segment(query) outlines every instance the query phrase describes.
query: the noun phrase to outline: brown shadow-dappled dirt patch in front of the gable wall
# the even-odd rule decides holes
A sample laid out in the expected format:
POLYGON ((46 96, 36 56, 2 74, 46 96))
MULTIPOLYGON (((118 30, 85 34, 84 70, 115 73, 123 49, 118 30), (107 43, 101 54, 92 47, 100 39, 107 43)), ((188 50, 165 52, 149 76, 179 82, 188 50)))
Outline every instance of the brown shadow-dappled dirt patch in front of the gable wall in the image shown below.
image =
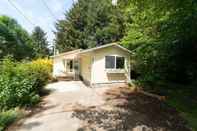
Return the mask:
POLYGON ((102 106, 74 111, 72 117, 83 121, 78 131, 190 131, 175 109, 156 98, 129 88, 112 88, 103 97, 102 106))

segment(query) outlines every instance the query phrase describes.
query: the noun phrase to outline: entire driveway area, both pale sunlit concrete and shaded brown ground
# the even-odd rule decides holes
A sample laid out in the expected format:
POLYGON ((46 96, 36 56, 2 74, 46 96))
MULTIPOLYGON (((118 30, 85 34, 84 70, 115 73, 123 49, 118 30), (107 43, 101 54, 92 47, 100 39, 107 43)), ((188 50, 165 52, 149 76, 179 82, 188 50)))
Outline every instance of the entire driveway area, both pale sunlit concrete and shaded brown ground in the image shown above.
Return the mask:
POLYGON ((53 92, 41 107, 9 131, 191 131, 175 109, 130 87, 70 81, 46 88, 53 92))

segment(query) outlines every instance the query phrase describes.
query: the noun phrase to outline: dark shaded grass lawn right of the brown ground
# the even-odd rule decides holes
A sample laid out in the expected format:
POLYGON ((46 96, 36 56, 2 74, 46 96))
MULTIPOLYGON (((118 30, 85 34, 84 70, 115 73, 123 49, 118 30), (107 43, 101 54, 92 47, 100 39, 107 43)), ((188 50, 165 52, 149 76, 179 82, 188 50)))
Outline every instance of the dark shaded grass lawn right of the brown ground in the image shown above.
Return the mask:
POLYGON ((188 121, 188 126, 197 131, 197 97, 192 97, 194 91, 191 87, 177 84, 159 84, 156 87, 156 93, 167 96, 167 104, 176 108, 188 121))

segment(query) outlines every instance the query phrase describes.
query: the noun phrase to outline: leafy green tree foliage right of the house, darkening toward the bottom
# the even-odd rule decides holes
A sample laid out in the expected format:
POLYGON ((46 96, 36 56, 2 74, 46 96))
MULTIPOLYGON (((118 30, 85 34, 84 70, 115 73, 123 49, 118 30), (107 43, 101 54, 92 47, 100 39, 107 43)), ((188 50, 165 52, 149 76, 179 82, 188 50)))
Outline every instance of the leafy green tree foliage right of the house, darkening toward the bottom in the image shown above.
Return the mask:
POLYGON ((191 83, 197 79, 197 3, 193 0, 132 0, 122 44, 133 50, 141 82, 191 83))

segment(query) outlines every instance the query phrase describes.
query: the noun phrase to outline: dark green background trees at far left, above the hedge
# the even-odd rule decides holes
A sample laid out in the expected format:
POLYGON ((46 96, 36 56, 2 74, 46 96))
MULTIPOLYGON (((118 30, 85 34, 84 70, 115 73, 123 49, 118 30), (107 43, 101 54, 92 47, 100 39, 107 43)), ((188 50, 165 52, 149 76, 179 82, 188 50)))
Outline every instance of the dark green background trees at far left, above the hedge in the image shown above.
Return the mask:
POLYGON ((16 20, 0 16, 0 59, 12 55, 15 59, 46 57, 50 53, 46 33, 35 27, 32 35, 16 20))

